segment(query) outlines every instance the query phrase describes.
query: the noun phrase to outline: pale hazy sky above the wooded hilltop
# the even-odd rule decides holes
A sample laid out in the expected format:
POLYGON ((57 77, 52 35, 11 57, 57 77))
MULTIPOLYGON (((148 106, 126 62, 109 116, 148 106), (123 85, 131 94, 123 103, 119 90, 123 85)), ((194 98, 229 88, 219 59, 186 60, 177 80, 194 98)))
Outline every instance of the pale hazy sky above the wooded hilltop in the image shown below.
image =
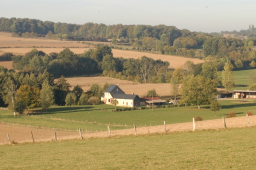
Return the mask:
POLYGON ((220 32, 256 26, 255 7, 256 0, 0 0, 0 17, 76 24, 165 24, 220 32))

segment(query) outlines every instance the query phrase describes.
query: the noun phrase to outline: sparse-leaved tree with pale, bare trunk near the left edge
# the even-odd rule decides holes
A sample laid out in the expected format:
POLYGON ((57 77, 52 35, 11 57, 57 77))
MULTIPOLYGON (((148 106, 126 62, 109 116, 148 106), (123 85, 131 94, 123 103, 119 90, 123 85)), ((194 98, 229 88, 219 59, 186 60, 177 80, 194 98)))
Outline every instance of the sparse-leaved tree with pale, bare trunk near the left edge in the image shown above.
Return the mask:
POLYGON ((5 96, 5 102, 6 103, 12 103, 12 108, 13 108, 13 115, 17 115, 16 111, 15 111, 15 105, 14 105, 14 96, 16 93, 16 89, 17 89, 17 84, 13 83, 12 80, 9 79, 9 81, 7 83, 5 83, 4 85, 4 92, 6 93, 5 96))

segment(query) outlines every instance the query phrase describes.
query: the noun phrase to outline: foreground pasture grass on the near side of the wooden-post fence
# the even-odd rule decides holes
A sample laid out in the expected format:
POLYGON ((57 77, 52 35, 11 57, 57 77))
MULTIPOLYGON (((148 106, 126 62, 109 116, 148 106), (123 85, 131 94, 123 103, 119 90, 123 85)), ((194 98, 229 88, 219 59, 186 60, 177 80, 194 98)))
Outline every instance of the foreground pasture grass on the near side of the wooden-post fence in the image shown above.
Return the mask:
POLYGON ((0 169, 254 169, 256 127, 0 145, 0 169))

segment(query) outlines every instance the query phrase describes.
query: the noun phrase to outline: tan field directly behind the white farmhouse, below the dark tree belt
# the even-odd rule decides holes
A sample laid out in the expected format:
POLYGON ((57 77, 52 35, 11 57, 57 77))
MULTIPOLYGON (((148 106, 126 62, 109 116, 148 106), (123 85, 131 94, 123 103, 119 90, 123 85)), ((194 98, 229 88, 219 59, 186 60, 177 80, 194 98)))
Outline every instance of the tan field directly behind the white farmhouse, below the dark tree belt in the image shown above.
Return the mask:
MULTIPOLYGON (((96 76, 96 77, 74 77, 74 78, 66 78, 67 82, 70 85, 80 85, 81 88, 86 91, 90 88, 92 83, 98 83, 103 85, 105 82, 111 84, 118 84, 118 86, 126 93, 137 94, 138 96, 142 97, 146 95, 147 90, 154 88, 156 93, 161 96, 170 95, 170 84, 168 83, 160 83, 160 84, 153 84, 153 83, 146 83, 141 84, 138 82, 128 81, 128 80, 120 80, 117 78, 105 77, 105 76, 96 76)), ((56 81, 56 80, 55 80, 56 81)))

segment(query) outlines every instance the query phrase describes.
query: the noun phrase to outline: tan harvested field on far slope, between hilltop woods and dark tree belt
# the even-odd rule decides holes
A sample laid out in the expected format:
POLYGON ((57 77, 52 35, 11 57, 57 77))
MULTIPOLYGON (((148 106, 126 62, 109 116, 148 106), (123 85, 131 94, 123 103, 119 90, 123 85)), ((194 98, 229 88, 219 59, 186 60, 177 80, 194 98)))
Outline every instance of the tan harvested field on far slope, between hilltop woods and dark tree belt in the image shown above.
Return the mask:
MULTIPOLYGON (((88 41, 91 42, 91 41, 88 41)), ((95 42, 97 43, 97 42, 95 42)), ((98 42, 102 43, 102 42, 98 42)), ((110 44, 110 42, 104 42, 110 44)), ((45 53, 60 52, 64 47, 69 47, 74 53, 83 53, 84 50, 88 50, 88 45, 82 43, 76 43, 76 41, 61 41, 52 39, 39 39, 39 38, 22 38, 22 37, 11 37, 10 33, 0 32, 0 54, 4 52, 13 52, 14 54, 24 54, 30 51, 35 46, 37 50, 42 50, 45 53)), ((91 47, 91 46, 90 46, 91 47)), ((113 56, 124 58, 139 58, 143 55, 151 57, 153 59, 161 59, 170 63, 169 68, 181 67, 185 61, 191 60, 195 64, 203 62, 200 59, 185 58, 180 56, 160 55, 148 52, 128 51, 112 49, 113 56)))

